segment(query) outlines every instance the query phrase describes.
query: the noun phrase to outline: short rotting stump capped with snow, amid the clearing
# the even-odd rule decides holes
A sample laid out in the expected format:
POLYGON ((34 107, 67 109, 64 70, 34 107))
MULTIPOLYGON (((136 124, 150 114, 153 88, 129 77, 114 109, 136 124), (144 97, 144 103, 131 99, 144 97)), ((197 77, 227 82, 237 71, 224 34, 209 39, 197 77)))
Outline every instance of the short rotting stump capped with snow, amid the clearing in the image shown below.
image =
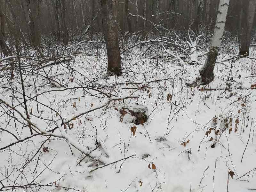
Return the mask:
POLYGON ((144 124, 148 120, 148 108, 145 105, 125 105, 119 110, 120 121, 124 123, 144 124))

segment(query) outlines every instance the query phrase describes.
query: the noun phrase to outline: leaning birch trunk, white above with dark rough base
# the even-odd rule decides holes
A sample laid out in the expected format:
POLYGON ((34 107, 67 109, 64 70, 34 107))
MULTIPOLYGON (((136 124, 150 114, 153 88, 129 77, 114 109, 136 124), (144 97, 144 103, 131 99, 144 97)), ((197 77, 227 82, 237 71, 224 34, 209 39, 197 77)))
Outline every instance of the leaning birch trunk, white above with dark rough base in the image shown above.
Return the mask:
POLYGON ((212 82, 214 75, 213 69, 219 53, 219 47, 221 38, 223 36, 225 23, 227 19, 229 0, 220 0, 219 10, 217 14, 216 24, 214 28, 214 34, 212 37, 212 43, 207 54, 204 66, 199 70, 202 84, 209 84, 212 82))

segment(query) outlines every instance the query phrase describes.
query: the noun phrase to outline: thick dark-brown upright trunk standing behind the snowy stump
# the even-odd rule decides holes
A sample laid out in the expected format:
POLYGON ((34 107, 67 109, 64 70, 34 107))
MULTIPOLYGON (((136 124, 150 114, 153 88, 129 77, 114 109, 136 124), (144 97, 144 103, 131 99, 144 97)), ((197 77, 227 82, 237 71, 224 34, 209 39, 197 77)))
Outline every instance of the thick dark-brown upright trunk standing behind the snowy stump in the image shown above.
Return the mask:
POLYGON ((100 0, 102 12, 103 32, 107 46, 108 54, 108 74, 117 76, 122 75, 120 47, 118 42, 118 34, 115 26, 114 10, 115 0, 100 0))

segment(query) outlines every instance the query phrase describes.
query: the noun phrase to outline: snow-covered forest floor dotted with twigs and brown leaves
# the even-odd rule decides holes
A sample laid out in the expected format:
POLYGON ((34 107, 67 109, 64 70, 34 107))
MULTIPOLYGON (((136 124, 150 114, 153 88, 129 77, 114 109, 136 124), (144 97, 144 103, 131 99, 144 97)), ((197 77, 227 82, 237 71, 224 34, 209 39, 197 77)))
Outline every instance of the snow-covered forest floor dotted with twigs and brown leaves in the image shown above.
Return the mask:
MULTIPOLYGON (((12 134, 19 140, 30 135, 27 123, 0 104, 0 128, 8 131, 0 130, 0 148, 17 142, 0 150, 4 186, 29 183, 34 191, 88 192, 256 190, 254 47, 250 58, 224 61, 238 51, 224 43, 214 81, 199 87, 188 87, 186 82, 199 75, 201 65, 181 66, 160 56, 152 59, 153 53, 142 55, 139 48, 122 54, 122 76, 103 77, 107 57, 101 51, 98 59, 91 50, 82 50, 70 62, 38 69, 55 80, 51 83, 36 73, 23 75, 31 122, 46 131, 58 125, 54 133, 68 141, 36 135, 17 142, 12 134), (139 98, 108 102, 108 94, 110 99, 139 98), (148 108, 143 125, 129 123, 128 116, 119 112, 122 106, 136 103, 148 108), (92 110, 98 107, 102 108, 92 110), (60 116, 72 120, 69 126, 60 125, 60 116), (90 157, 78 164, 85 155, 74 145, 91 152, 90 157)), ((203 64, 203 59, 198 62, 203 64)), ((23 102, 20 76, 12 81, 2 77, 0 86, 0 99, 26 116, 19 105, 23 102)), ((23 190, 30 188, 18 189, 23 190)))

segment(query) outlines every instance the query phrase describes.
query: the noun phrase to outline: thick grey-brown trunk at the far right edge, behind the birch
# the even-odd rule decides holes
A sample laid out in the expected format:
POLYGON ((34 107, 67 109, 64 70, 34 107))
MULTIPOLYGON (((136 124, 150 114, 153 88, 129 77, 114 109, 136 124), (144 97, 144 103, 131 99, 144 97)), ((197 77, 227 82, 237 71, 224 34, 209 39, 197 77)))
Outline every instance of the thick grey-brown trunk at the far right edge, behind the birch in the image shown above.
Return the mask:
POLYGON ((249 48, 251 43, 251 33, 253 26, 253 19, 256 8, 255 0, 243 1, 243 15, 242 15, 242 31, 241 31, 241 46, 239 55, 249 55, 249 48))

